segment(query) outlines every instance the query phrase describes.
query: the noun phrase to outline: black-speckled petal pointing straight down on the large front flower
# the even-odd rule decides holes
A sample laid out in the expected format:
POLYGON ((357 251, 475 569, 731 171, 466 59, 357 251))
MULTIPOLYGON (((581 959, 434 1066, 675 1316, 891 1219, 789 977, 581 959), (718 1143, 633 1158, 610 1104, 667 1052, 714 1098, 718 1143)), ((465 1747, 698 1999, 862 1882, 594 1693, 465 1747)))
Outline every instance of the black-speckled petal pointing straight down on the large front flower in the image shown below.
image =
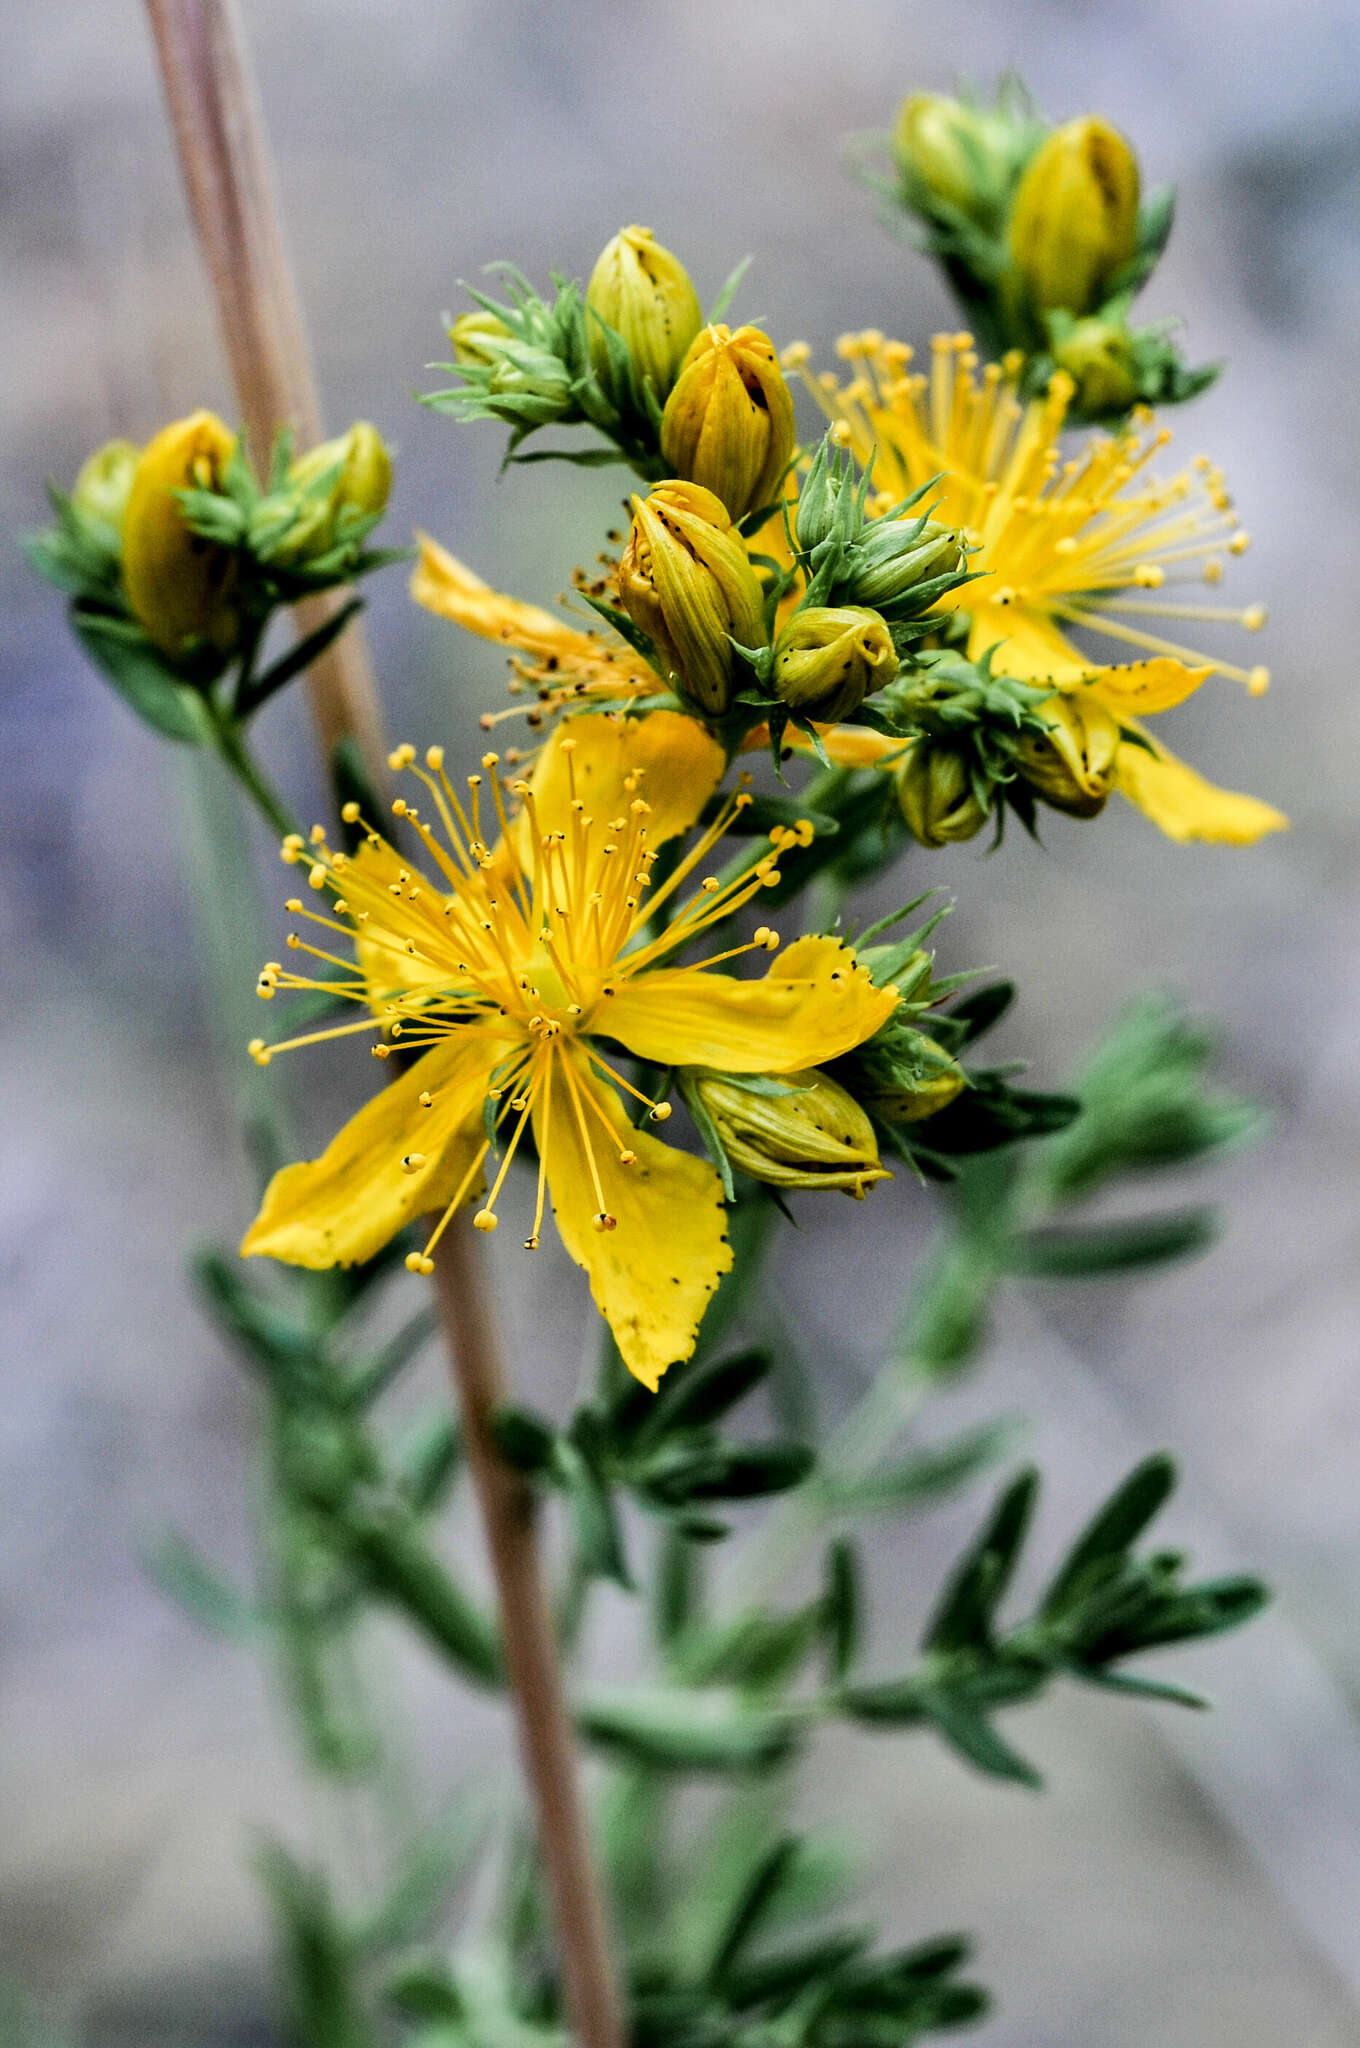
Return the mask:
POLYGON ((580 1047, 553 1055, 535 1098, 535 1139, 561 1241, 590 1274, 629 1372, 655 1391, 662 1372, 692 1354, 731 1266, 721 1182, 707 1159, 633 1130, 580 1047), (621 1163, 623 1149, 633 1165, 621 1163), (598 1214, 612 1217, 612 1229, 596 1229, 598 1214))

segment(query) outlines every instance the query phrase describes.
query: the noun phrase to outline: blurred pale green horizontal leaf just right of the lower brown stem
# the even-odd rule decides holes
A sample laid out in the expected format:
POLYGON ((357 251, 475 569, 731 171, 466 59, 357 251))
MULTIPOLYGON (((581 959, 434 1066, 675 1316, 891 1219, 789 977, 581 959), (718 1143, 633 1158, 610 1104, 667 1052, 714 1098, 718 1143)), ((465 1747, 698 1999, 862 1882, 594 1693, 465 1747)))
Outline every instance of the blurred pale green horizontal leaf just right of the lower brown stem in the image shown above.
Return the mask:
POLYGON ((602 1749, 657 1769, 768 1769, 797 1741, 797 1720, 787 1708, 666 1686, 600 1688, 582 1698, 576 1722, 602 1749))

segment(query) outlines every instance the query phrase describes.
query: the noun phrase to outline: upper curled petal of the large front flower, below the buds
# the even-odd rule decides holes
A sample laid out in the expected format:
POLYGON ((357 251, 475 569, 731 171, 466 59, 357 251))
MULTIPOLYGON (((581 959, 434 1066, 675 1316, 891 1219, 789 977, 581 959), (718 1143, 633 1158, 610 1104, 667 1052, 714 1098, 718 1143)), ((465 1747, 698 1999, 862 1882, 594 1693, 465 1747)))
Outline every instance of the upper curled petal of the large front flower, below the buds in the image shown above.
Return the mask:
POLYGON ((688 831, 723 778, 723 750, 703 725, 680 711, 649 711, 641 719, 610 713, 567 719, 539 754, 530 788, 543 831, 571 829, 571 797, 586 815, 627 817, 643 799, 647 846, 688 831))

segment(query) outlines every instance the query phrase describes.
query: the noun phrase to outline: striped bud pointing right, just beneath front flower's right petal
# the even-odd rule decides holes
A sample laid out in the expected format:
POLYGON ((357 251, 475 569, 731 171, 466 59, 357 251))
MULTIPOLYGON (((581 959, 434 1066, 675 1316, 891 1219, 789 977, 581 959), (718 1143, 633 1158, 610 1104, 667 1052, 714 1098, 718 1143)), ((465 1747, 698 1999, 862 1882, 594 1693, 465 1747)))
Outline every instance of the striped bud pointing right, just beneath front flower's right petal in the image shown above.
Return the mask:
POLYGON ((862 1200, 875 1180, 889 1178, 868 1116, 817 1067, 762 1081, 760 1090, 743 1087, 739 1077, 694 1071, 692 1087, 733 1167, 752 1180, 774 1188, 842 1188, 862 1200), (782 1092, 764 1094, 770 1085, 782 1092))

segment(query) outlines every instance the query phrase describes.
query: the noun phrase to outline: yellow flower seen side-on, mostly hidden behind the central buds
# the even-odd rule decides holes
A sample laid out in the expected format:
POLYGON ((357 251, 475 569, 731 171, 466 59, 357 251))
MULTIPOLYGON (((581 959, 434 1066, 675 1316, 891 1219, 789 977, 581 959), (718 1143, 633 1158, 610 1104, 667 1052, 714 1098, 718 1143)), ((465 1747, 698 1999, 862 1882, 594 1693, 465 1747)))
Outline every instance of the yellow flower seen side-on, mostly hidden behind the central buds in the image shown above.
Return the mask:
MULTIPOLYGON (((533 690, 528 725, 567 707, 590 702, 621 702, 635 696, 657 696, 666 684, 627 641, 617 639, 602 623, 573 627, 541 604, 492 590, 447 547, 418 532, 420 559, 412 573, 412 598, 436 618, 500 641, 512 655, 510 690, 520 696, 533 690)), ((485 713, 481 729, 490 731, 502 719, 516 717, 522 707, 485 713)))

